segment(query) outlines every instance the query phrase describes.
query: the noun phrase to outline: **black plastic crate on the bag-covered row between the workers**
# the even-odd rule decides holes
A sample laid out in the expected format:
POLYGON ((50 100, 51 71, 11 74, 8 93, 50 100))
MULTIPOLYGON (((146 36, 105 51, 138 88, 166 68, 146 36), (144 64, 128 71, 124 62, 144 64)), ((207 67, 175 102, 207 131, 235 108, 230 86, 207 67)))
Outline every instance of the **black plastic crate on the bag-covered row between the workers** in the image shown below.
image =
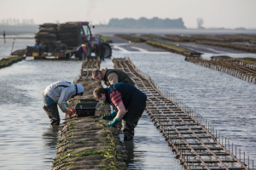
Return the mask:
POLYGON ((84 116, 95 116, 95 111, 98 106, 98 103, 78 103, 75 105, 75 110, 79 117, 84 116))

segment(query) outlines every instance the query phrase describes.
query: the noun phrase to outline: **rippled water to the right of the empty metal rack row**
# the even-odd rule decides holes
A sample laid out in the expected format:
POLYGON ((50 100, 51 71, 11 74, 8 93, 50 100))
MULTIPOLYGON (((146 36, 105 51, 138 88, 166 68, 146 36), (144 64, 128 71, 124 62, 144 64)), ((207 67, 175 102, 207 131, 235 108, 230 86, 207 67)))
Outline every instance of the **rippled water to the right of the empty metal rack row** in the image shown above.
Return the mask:
MULTIPOLYGON (((247 156, 256 160, 254 83, 186 62, 178 54, 127 53, 125 50, 118 53, 119 57, 129 57, 160 88, 175 94, 177 99, 207 118, 214 130, 229 139, 230 144, 237 145, 237 153, 241 149, 242 159, 245 152, 246 160, 247 156)), ((244 57, 243 54, 240 57, 244 57)))

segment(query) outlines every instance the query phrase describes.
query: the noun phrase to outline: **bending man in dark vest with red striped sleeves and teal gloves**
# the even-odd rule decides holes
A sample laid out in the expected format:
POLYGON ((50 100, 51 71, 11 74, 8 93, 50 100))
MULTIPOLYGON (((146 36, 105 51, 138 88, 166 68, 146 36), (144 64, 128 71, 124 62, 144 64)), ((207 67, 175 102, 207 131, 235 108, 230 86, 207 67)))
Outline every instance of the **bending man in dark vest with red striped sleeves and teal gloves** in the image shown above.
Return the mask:
POLYGON ((131 140, 134 137, 134 128, 143 115, 146 108, 147 96, 130 84, 119 82, 111 85, 109 88, 95 88, 94 98, 113 106, 115 112, 102 116, 105 120, 112 120, 108 123, 110 127, 115 127, 122 119, 122 131, 125 134, 125 140, 131 140))

